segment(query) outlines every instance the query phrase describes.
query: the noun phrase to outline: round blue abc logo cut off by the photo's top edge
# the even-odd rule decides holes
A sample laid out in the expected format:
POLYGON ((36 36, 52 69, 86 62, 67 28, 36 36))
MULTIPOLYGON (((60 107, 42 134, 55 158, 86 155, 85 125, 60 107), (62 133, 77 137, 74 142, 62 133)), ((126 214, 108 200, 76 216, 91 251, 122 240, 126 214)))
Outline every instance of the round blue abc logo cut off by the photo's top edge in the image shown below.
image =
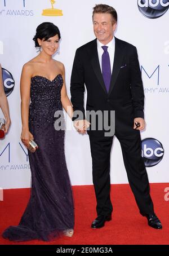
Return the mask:
POLYGON ((139 11, 149 19, 161 17, 169 7, 169 0, 138 0, 139 11))

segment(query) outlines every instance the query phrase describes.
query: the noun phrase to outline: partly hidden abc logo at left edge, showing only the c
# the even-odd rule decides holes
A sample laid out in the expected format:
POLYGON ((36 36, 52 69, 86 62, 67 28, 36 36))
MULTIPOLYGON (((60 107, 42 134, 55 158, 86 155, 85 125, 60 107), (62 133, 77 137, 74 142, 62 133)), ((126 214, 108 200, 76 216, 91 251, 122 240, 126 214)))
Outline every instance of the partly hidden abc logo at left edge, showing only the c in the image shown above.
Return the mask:
POLYGON ((15 81, 12 77, 12 74, 8 72, 5 68, 2 68, 2 77, 3 77, 3 87, 5 90, 6 96, 10 95, 14 90, 15 81))

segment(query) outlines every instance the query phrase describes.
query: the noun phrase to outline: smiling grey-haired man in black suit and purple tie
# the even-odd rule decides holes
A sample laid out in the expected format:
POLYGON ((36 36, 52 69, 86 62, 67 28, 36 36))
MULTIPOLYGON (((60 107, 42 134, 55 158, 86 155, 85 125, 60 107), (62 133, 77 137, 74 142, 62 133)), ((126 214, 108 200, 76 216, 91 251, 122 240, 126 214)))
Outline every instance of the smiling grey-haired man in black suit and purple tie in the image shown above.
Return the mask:
MULTIPOLYGON (((114 37, 117 12, 108 5, 96 5, 93 11, 96 39, 79 47, 75 53, 71 100, 74 111, 83 118, 73 116, 79 133, 86 131, 88 122, 84 111, 84 84, 87 89, 87 111, 115 111, 115 136, 119 140, 126 167, 128 182, 134 193, 140 214, 148 219, 149 226, 162 228, 154 213, 149 182, 141 157, 140 130, 144 129, 144 91, 136 47, 114 37)), ((112 122, 108 120, 109 124, 112 122)), ((92 123, 91 123, 92 124, 92 123)), ((113 136, 105 130, 87 131, 90 138, 92 174, 97 200, 97 218, 92 228, 101 228, 112 219, 110 201, 110 151, 113 136)))

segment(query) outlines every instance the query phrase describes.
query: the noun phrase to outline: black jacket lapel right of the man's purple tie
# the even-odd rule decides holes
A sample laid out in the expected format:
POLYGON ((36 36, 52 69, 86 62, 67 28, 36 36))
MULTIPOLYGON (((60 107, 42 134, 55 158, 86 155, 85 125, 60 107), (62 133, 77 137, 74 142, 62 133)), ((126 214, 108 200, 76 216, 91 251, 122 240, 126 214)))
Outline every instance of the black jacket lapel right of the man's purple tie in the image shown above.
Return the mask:
POLYGON ((119 70, 123 63, 124 48, 121 47, 117 38, 115 38, 115 52, 114 52, 114 63, 112 71, 112 79, 110 82, 109 94, 112 92, 115 82, 118 77, 119 70))

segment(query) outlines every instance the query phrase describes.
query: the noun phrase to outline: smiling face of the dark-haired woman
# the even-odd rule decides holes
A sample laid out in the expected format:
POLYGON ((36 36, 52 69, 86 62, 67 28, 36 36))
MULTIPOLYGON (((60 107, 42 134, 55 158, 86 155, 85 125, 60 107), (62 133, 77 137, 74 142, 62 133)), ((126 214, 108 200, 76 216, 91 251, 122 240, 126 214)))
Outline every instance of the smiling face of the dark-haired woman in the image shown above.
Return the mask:
POLYGON ((56 36, 50 37, 46 41, 44 41, 44 39, 41 40, 38 38, 38 43, 41 46, 42 51, 48 55, 53 55, 59 47, 59 37, 56 34, 56 36))

